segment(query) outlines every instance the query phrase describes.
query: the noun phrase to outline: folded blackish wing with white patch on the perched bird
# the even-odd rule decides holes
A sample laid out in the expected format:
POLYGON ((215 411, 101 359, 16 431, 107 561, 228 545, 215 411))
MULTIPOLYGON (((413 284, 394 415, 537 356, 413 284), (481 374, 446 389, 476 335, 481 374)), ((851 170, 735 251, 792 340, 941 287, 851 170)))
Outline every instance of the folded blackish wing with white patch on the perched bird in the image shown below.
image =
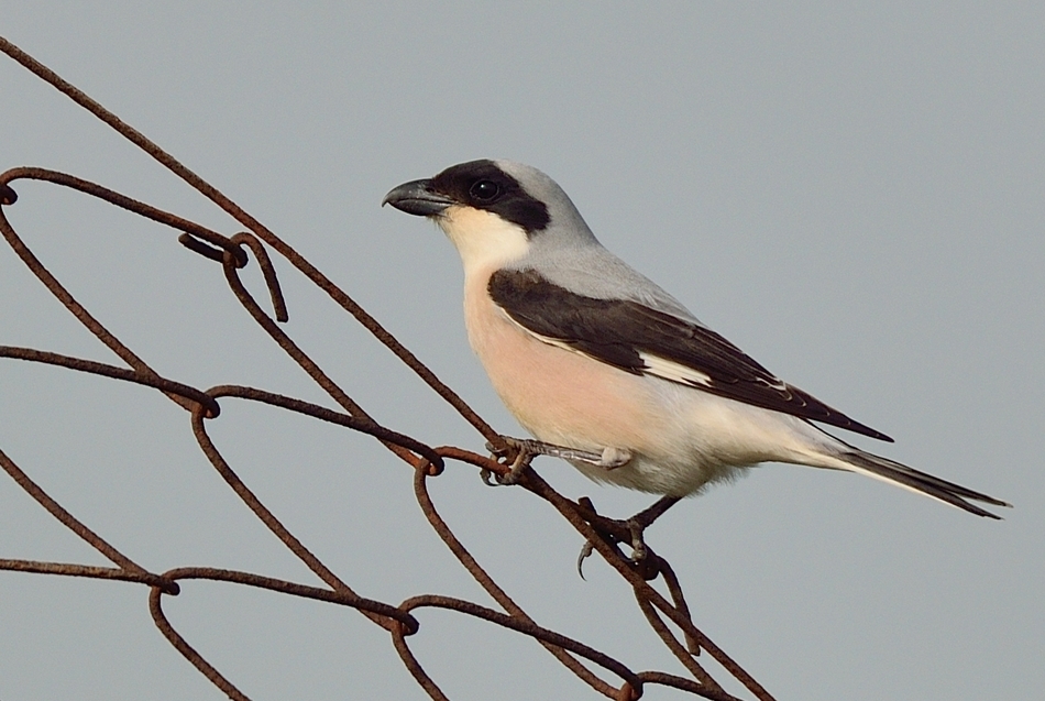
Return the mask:
POLYGON ((530 332, 626 372, 892 441, 782 382, 711 329, 670 314, 637 302, 578 295, 532 270, 497 271, 488 292, 530 332))

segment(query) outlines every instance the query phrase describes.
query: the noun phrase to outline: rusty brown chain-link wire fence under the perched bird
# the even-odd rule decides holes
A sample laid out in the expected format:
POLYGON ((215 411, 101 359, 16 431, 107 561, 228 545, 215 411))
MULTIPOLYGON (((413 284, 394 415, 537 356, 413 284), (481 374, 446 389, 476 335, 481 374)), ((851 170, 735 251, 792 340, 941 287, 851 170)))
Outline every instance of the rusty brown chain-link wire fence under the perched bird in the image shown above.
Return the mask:
POLYGON ((210 580, 227 582, 240 587, 253 587, 278 592, 280 594, 314 599, 330 604, 351 606, 376 625, 388 631, 392 644, 399 654, 407 671, 417 683, 432 698, 447 699, 437 682, 425 671, 421 662, 410 650, 408 638, 421 631, 417 612, 424 609, 443 609, 460 615, 486 621, 493 625, 528 636, 543 646, 559 662, 591 687, 596 693, 608 699, 634 701, 642 695, 646 684, 660 684, 704 699, 715 701, 739 701, 705 670, 696 657, 706 653, 734 680, 744 686, 755 699, 771 701, 772 697, 740 668, 728 655, 707 638, 694 624, 682 587, 671 566, 650 548, 641 565, 632 562, 618 547, 628 541, 623 526, 595 513, 586 500, 574 502, 553 490, 540 475, 527 468, 518 483, 530 494, 547 501, 578 533, 592 545, 594 551, 618 572, 631 587, 639 610, 646 616, 653 633, 663 642, 668 650, 681 662, 689 677, 662 671, 634 671, 624 662, 602 653, 594 647, 566 637, 537 623, 501 588, 477 560, 468 551, 461 540, 451 532, 439 515, 428 491, 428 480, 443 472, 448 462, 461 463, 481 470, 505 475, 508 468, 502 461, 469 450, 443 446, 432 448, 405 434, 398 432, 375 421, 348 393, 344 392, 295 341, 279 327, 288 319, 287 306, 280 292, 275 269, 270 260, 271 248, 299 273, 305 275, 344 311, 356 319, 380 342, 386 346, 404 364, 413 370, 432 391, 452 406, 475 430, 488 441, 498 454, 510 456, 510 447, 490 424, 469 407, 457 393, 443 384, 409 350, 370 316, 349 295, 327 278, 317 267, 305 260, 287 243, 276 237, 261 222, 237 206, 217 188, 186 168, 160 146, 148 141, 140 132, 122 122, 101 105, 63 80, 52 70, 0 37, 0 51, 34 73, 44 81, 68 96, 87 109, 91 114, 112 127, 117 132, 153 156, 170 169, 187 185, 198 190, 215 205, 230 215, 246 231, 226 237, 217 231, 193 221, 140 202, 101 185, 75 176, 45 168, 19 167, 0 174, 0 234, 25 266, 40 280, 47 291, 65 306, 101 343, 120 358, 127 368, 95 362, 81 358, 61 355, 37 349, 0 346, 0 358, 25 362, 43 363, 77 372, 91 373, 121 382, 157 390, 184 407, 190 419, 193 435, 200 450, 211 465, 239 496, 243 504, 262 524, 316 577, 324 588, 311 587, 287 580, 274 579, 262 574, 234 570, 179 567, 165 572, 151 572, 117 549, 107 539, 78 521, 66 508, 52 499, 29 474, 2 450, 2 468, 32 499, 45 508, 58 522, 105 556, 113 567, 95 567, 72 562, 40 562, 34 560, 0 559, 0 569, 37 574, 64 577, 87 577, 94 579, 119 580, 148 587, 148 606, 153 621, 160 632, 193 666, 207 677, 230 699, 246 699, 235 684, 197 651, 170 624, 163 612, 164 595, 178 595, 183 580, 210 580), (218 385, 208 390, 197 388, 188 383, 163 376, 153 370, 130 348, 124 346, 105 326, 80 305, 73 295, 52 275, 44 264, 30 251, 29 247, 8 221, 3 207, 18 200, 18 194, 11 186, 21 179, 33 179, 67 187, 90 197, 110 202, 124 210, 151 219, 179 232, 178 241, 210 260, 221 264, 229 288, 246 313, 265 330, 272 340, 298 364, 298 366, 337 404, 341 410, 304 402, 265 390, 242 385, 218 385), (268 289, 273 315, 257 304, 240 280, 240 270, 253 258, 262 270, 268 289), (295 537, 279 518, 268 510, 246 483, 239 478, 207 431, 207 421, 216 419, 221 408, 219 399, 264 403, 283 410, 294 412, 346 429, 373 436, 388 450, 404 460, 415 471, 414 489, 418 506, 428 518, 437 535, 450 549, 461 566, 475 579, 501 611, 475 602, 419 594, 393 604, 366 599, 355 593, 346 582, 323 565, 308 547, 295 537), (657 578, 663 580, 667 595, 652 585, 657 578), (670 625, 669 625, 670 624, 670 625), (671 626, 674 626, 672 628, 671 626), (678 633, 676 633, 678 631, 678 633), (594 669, 598 669, 596 672, 594 669), (608 675, 608 679, 604 676, 608 675))

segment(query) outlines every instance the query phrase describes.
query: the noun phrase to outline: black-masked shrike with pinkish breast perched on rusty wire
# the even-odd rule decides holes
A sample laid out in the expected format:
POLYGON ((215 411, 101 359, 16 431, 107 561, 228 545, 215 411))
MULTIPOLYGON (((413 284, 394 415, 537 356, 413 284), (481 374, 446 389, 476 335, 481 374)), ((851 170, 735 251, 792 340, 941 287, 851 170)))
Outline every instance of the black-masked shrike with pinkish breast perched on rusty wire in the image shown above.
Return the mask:
MULTIPOLYGON (((998 518, 1005 502, 866 452, 892 441, 773 375, 600 244, 540 171, 472 161, 385 197, 464 264, 469 340, 519 423, 581 472, 682 497, 760 462, 848 470, 998 518)), ((651 239, 653 232, 644 232, 651 239)))

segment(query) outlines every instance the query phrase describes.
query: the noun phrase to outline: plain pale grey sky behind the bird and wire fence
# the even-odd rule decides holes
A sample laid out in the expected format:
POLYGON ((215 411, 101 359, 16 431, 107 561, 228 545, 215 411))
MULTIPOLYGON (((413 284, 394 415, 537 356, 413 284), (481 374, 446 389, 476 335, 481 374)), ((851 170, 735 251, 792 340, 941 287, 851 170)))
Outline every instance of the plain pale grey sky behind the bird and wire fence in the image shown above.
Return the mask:
MULTIPOLYGON (((1030 699, 1045 687, 1045 6, 31 3, 0 33, 318 264, 484 417, 519 434, 464 336, 461 272, 394 185, 476 157, 530 163, 596 236, 768 368, 895 437, 861 446, 1007 499, 1000 523, 855 475, 767 465, 649 534, 697 624, 780 699, 1030 699)), ((72 172, 238 227, 85 111, 0 59, 0 168, 72 172)), ((326 402, 176 236, 20 184, 15 227, 166 376, 326 402)), ((276 262, 288 331, 376 418, 482 440, 276 262)), ((256 266, 248 280, 261 293, 256 266)), ((7 249, 0 343, 116 359, 7 249)), ((363 595, 488 603, 373 440, 226 401, 211 430, 287 526, 363 595)), ((316 583, 156 392, 0 363, 0 446, 153 570, 316 583)), ((542 475, 601 511, 647 496, 542 475)), ((520 490, 432 484, 465 545, 539 622, 632 668, 679 666, 623 582, 520 490)), ((103 565, 7 478, 0 557, 103 565)), ((257 699, 422 699, 351 610, 186 583, 165 609, 257 699)), ((595 698, 530 640, 420 614, 455 700, 595 698)), ((144 588, 0 572, 0 699, 219 699, 153 627, 144 588)), ((650 688, 649 699, 681 694, 650 688)))

